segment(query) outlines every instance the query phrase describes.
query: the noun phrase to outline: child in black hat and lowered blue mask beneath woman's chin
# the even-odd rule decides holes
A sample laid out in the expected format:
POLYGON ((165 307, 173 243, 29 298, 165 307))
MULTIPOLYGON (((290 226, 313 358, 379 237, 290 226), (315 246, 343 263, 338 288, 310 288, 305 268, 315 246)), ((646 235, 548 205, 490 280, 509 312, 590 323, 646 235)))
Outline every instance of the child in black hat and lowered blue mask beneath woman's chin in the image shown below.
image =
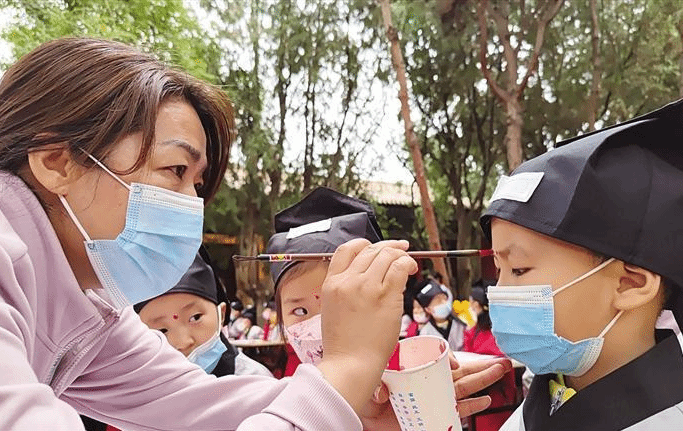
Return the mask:
POLYGON ((209 374, 272 377, 266 367, 238 352, 221 333, 227 306, 219 303, 218 289, 213 270, 197 254, 171 290, 133 308, 144 324, 163 333, 173 347, 209 374))

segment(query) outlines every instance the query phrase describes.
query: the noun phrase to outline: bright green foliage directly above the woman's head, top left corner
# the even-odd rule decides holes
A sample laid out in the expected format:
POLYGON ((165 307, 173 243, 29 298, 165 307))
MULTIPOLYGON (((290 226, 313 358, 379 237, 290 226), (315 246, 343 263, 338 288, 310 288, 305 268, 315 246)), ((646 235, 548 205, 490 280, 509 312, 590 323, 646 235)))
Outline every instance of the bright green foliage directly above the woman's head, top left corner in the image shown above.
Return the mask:
POLYGON ((19 58, 47 40, 63 36, 107 38, 138 45, 189 73, 215 81, 207 59, 215 46, 182 0, 3 0, 17 11, 17 24, 2 34, 19 58))

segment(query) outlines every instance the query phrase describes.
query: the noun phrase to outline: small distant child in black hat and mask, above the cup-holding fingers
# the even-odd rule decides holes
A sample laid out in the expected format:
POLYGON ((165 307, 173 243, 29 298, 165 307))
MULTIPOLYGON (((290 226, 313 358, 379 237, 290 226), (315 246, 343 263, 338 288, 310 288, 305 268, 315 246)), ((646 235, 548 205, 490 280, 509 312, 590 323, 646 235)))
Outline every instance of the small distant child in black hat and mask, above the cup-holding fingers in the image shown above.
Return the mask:
POLYGON ((418 288, 420 292, 417 294, 417 302, 429 315, 429 322, 420 329, 420 335, 442 337, 448 341, 451 350, 462 349, 466 325, 460 319, 453 317, 452 305, 446 292, 434 280, 424 280, 418 288))

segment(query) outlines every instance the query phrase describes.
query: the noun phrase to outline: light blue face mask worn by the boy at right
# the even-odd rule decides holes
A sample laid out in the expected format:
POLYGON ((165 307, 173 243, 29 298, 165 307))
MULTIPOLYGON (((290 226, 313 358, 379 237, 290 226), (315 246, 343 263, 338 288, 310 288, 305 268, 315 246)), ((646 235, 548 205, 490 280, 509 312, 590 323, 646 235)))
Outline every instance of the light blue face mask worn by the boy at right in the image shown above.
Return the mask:
POLYGON ((605 334, 623 311, 619 311, 597 337, 571 342, 555 334, 553 296, 613 261, 614 258, 607 260, 554 292, 552 286, 489 287, 491 331, 500 350, 526 365, 534 374, 585 374, 598 360, 605 334))

